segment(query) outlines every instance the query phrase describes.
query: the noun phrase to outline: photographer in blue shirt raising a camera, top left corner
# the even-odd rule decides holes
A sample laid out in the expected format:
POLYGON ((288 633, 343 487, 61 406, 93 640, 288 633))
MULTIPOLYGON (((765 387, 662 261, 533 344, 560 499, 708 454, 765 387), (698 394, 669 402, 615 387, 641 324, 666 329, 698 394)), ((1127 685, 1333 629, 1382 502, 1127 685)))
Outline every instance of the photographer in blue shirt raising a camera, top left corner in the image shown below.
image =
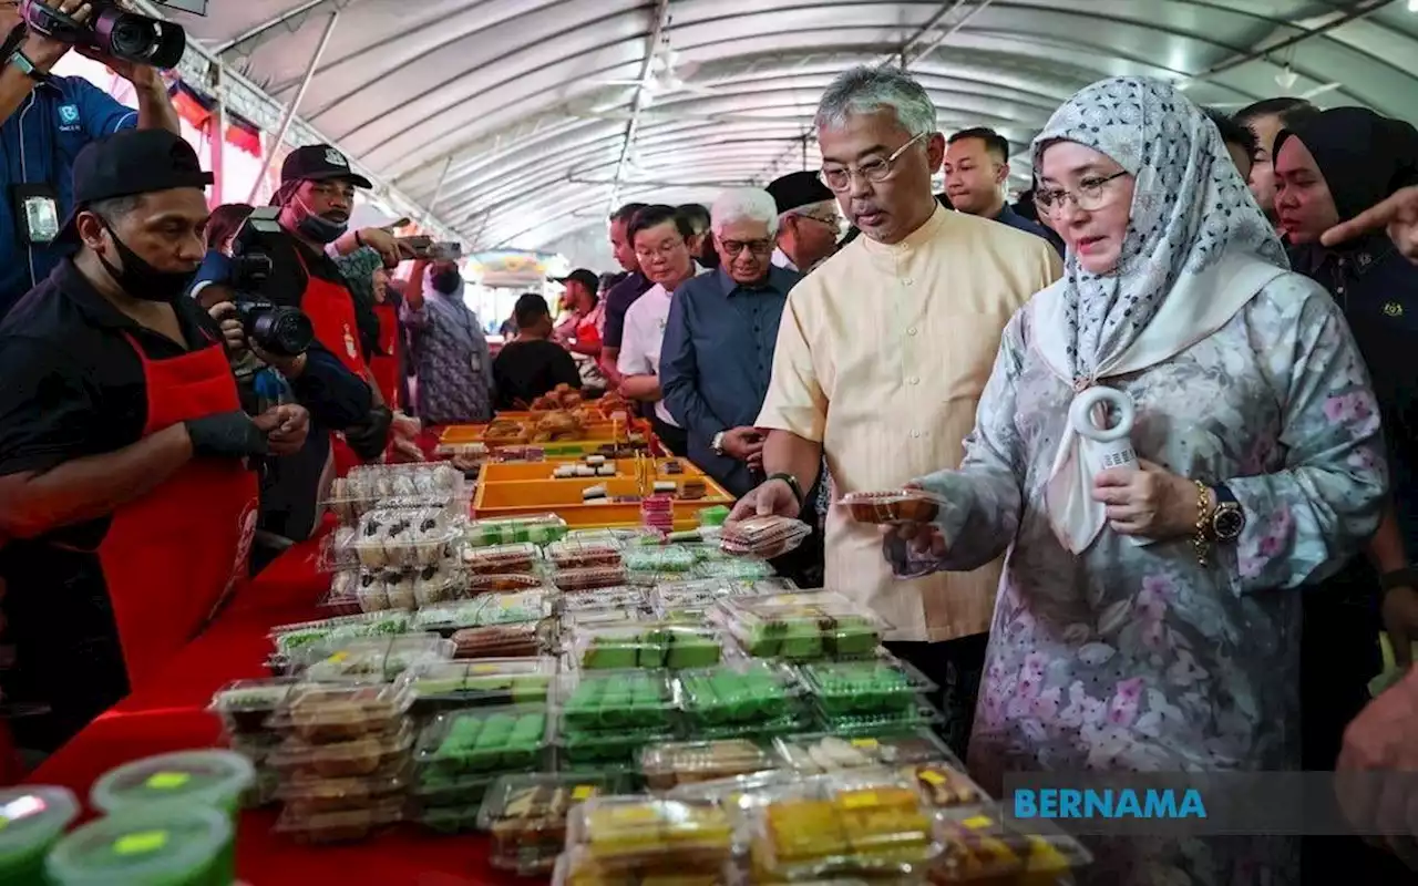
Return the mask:
POLYGON ((78 52, 108 65, 133 84, 138 109, 125 108, 82 77, 52 77, 50 69, 72 47, 26 21, 45 21, 45 10, 89 21, 102 3, 85 0, 0 1, 0 145, 9 160, 0 164, 0 318, 33 286, 44 281, 72 247, 55 242, 60 220, 71 210, 69 176, 79 150, 119 129, 166 129, 180 135, 157 71, 81 45, 78 52))

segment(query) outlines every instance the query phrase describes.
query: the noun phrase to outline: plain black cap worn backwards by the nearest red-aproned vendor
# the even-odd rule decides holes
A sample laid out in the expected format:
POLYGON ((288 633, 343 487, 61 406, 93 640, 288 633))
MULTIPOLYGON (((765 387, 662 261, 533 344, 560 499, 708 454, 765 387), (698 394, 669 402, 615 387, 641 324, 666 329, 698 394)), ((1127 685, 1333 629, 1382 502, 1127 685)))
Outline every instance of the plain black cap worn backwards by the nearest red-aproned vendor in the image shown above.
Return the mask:
POLYGON ((78 242, 78 215, 99 200, 174 187, 206 190, 211 173, 191 145, 166 129, 125 129, 89 142, 74 159, 74 210, 55 242, 78 242))

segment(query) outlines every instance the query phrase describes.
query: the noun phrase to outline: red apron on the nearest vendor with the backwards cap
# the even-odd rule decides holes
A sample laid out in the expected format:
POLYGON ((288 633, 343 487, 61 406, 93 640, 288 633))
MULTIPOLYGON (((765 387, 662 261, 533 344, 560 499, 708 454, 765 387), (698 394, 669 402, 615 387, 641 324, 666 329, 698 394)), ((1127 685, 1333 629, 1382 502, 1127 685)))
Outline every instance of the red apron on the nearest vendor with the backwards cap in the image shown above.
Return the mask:
MULTIPOLYGON (((179 421, 241 408, 221 344, 143 364, 143 437, 179 421)), ((113 512, 98 549, 132 690, 210 619, 245 576, 257 527, 257 473, 237 459, 193 458, 113 512)))

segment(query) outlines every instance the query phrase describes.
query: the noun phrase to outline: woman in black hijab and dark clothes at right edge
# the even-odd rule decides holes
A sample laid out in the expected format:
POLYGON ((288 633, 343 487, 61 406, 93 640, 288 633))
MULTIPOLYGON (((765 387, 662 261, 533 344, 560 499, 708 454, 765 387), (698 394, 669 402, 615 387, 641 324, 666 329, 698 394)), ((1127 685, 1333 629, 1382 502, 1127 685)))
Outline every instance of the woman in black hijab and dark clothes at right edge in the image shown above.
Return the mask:
MULTIPOLYGON (((1367 561, 1356 559, 1305 597, 1305 767, 1332 768, 1344 726, 1368 700, 1367 683, 1381 669, 1374 642, 1380 624, 1401 663, 1418 641, 1418 570, 1409 567, 1418 556, 1418 267, 1381 230, 1334 247, 1320 235, 1418 183, 1418 130, 1367 108, 1334 108, 1282 130, 1273 156, 1275 208, 1292 265, 1344 310, 1373 376, 1394 498, 1367 561)), ((1306 846, 1306 873, 1314 862, 1349 876, 1375 863, 1357 843, 1351 852, 1339 849, 1327 845, 1312 856, 1306 846)))

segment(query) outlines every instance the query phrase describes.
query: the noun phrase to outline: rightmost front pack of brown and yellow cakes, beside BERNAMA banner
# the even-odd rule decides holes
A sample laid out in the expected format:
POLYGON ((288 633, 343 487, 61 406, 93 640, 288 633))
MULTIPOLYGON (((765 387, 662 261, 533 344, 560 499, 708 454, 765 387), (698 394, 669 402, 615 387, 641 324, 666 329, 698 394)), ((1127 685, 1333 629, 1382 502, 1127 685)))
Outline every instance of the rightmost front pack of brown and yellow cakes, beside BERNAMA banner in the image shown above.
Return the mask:
POLYGON ((1005 824, 994 804, 956 807, 936 817, 942 856, 932 870, 936 883, 998 883, 1015 877, 1021 883, 1054 883, 1071 870, 1093 860, 1072 836, 1045 819, 1029 822, 1025 834, 1005 824))

